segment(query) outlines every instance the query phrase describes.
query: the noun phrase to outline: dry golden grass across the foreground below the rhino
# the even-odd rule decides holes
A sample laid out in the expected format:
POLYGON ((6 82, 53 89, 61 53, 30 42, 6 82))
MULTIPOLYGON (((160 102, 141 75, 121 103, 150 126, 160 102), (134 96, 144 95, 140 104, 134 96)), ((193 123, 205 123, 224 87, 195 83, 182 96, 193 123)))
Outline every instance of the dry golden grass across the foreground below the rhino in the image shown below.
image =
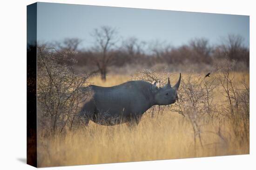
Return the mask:
MULTIPOLYGON (((232 74, 236 75, 239 85, 243 73, 232 74)), ((182 76, 186 77, 185 74, 182 76)), ((249 79, 248 73, 246 77, 249 79)), ((130 76, 110 75, 107 82, 102 82, 99 77, 90 81, 99 86, 113 86, 129 79, 130 76)), ((219 92, 215 100, 223 98, 219 92)), ((241 143, 236 139, 231 121, 224 121, 221 125, 223 139, 212 133, 218 132, 220 125, 217 120, 206 118, 202 123, 203 147, 199 142, 194 145, 193 126, 189 120, 169 110, 158 118, 149 118, 144 114, 140 124, 133 129, 126 124, 100 126, 90 122, 88 129, 51 139, 39 136, 38 165, 101 164, 249 153, 249 141, 241 143)))

